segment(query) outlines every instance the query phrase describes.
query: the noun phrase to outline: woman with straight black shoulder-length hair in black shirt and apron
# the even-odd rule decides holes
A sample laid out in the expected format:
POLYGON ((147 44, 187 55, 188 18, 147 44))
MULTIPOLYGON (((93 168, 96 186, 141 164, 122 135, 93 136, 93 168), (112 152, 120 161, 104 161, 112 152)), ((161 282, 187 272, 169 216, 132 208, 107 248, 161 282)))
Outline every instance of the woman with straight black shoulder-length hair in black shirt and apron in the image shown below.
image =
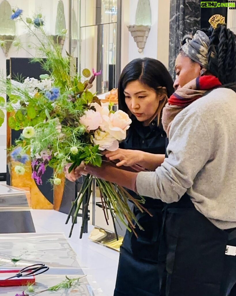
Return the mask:
MULTIPOLYGON (((163 162, 166 134, 161 125, 161 115, 172 93, 171 75, 158 60, 135 59, 124 67, 119 79, 118 105, 120 110, 130 115, 132 123, 119 149, 107 154, 111 160, 117 159, 117 154, 127 160, 132 155, 132 161, 150 170, 155 170, 163 162), (151 166, 147 155, 153 160, 151 166)), ((117 165, 127 165, 127 162, 123 158, 117 165)), ((130 194, 140 198, 132 191, 130 194)), ((153 216, 141 213, 134 206, 134 214, 145 231, 136 227, 138 238, 133 232, 126 231, 120 247, 114 296, 159 295, 158 248, 164 203, 147 197, 144 207, 153 216), (140 280, 144 278, 147 280, 140 280)))

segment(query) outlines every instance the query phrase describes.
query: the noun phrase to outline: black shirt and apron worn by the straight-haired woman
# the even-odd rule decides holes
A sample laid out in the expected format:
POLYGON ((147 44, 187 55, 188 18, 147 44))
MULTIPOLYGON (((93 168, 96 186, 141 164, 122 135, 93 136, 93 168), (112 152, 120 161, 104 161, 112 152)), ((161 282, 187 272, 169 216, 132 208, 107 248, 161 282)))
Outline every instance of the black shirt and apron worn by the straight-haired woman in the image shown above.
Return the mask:
MULTIPOLYGON (((135 122, 134 128, 129 131, 128 138, 120 148, 164 154, 165 134, 161 134, 156 122, 150 124, 150 129, 135 122)), ((130 193, 133 197, 137 197, 134 192, 130 193)), ((146 198, 144 206, 153 217, 141 213, 137 207, 134 207, 135 216, 145 231, 137 226, 135 231, 138 238, 132 232, 126 231, 120 247, 114 296, 159 295, 158 249, 164 205, 161 200, 146 198)))

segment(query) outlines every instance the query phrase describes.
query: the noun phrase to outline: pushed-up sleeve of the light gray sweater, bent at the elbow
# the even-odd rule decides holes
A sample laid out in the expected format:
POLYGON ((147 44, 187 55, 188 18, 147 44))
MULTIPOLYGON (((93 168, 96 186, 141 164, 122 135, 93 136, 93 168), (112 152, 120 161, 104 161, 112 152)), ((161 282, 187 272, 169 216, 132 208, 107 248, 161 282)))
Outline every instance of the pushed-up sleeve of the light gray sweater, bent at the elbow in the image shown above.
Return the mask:
POLYGON ((140 172, 136 179, 140 195, 167 203, 177 202, 193 186, 210 155, 208 131, 196 110, 176 116, 169 138, 168 158, 155 172, 140 172))

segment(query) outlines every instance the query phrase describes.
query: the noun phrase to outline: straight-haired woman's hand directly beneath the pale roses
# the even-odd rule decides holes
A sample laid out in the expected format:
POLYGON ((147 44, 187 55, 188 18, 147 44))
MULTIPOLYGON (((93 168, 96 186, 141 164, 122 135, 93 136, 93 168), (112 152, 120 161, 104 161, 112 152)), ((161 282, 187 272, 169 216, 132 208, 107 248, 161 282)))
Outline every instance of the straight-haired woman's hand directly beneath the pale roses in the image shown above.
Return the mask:
POLYGON ((120 162, 117 163, 116 165, 122 166, 132 166, 135 164, 139 164, 140 161, 142 161, 142 151, 139 150, 128 150, 128 149, 120 149, 118 148, 116 151, 106 151, 105 156, 109 159, 109 160, 115 160, 115 159, 119 159, 120 162))

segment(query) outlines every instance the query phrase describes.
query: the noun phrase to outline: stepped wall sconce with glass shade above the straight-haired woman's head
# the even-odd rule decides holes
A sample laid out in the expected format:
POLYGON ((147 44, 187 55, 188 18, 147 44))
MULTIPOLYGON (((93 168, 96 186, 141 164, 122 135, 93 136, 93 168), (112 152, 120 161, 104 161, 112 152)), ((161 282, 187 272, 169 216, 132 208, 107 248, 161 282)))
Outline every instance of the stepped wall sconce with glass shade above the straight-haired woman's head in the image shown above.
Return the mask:
POLYGON ((127 28, 137 44, 138 52, 142 53, 151 28, 151 8, 149 0, 138 1, 135 19, 136 24, 129 25, 127 28))

